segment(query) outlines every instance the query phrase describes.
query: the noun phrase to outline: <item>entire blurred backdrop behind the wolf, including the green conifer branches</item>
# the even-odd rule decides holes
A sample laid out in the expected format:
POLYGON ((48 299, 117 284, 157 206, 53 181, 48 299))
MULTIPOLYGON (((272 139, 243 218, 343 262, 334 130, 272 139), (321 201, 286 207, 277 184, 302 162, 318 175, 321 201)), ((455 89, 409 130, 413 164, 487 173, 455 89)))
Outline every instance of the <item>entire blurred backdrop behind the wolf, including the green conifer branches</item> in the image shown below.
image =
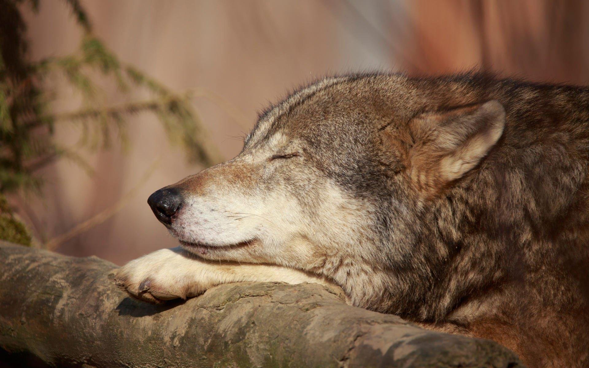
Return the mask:
POLYGON ((0 230, 117 264, 174 247, 148 195, 236 155, 292 88, 375 70, 586 84, 588 20, 572 0, 0 0, 0 230))

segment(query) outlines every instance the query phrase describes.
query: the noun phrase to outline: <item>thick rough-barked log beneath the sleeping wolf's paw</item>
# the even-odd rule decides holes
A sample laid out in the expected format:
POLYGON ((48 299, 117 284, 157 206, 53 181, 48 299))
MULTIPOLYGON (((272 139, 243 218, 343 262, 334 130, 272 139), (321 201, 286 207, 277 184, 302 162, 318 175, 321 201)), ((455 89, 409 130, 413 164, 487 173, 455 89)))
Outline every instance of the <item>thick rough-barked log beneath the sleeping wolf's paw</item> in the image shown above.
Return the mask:
POLYGON ((494 342, 350 307, 340 290, 319 284, 225 284, 186 302, 153 306, 118 290, 117 266, 97 257, 0 243, 0 260, 0 348, 4 359, 18 357, 19 364, 521 366, 494 342))

